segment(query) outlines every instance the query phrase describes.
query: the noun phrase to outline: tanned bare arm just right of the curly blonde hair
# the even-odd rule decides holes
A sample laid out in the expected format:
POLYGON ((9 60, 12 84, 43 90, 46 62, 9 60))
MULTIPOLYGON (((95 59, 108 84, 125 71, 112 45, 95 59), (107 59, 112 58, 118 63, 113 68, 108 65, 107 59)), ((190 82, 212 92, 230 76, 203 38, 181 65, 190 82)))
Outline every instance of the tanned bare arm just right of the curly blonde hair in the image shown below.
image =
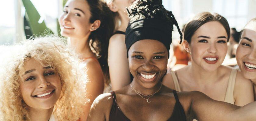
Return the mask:
POLYGON ((86 73, 89 79, 86 84, 86 93, 90 102, 83 107, 84 113, 80 117, 81 121, 85 121, 87 119, 91 104, 97 96, 103 93, 104 90, 104 76, 98 62, 93 59, 88 59, 85 64, 87 67, 86 73))

